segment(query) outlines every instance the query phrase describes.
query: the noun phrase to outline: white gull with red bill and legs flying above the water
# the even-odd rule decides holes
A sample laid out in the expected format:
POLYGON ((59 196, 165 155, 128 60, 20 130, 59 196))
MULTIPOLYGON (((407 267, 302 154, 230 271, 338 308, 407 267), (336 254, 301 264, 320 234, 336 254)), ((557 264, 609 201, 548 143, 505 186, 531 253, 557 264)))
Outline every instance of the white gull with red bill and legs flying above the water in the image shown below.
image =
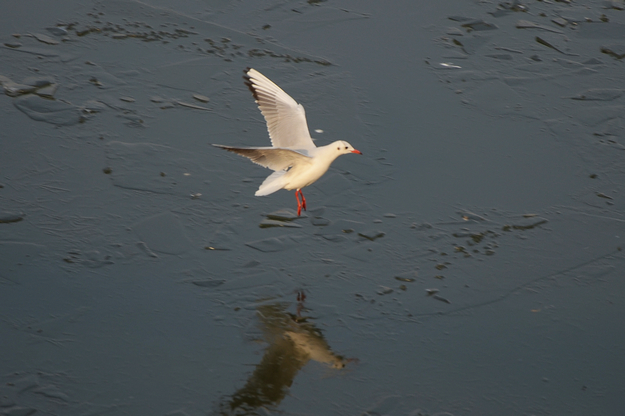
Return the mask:
POLYGON ((252 91, 267 122, 271 147, 213 146, 245 156, 273 170, 274 173, 263 181, 255 195, 265 196, 280 189, 295 189, 299 217, 302 208, 306 211, 302 188, 321 178, 337 157, 347 153, 362 155, 362 152, 343 140, 315 146, 308 131, 304 107, 257 70, 247 68, 244 72, 245 85, 252 91))

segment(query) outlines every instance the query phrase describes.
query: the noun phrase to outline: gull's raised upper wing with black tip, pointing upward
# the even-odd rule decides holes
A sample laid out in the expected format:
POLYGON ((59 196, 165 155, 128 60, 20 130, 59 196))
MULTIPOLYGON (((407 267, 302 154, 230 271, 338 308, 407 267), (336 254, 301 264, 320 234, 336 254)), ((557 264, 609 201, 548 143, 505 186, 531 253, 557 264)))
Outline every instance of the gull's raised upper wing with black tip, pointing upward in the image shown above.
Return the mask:
POLYGON ((301 104, 253 68, 246 69, 243 78, 265 117, 273 147, 296 150, 316 147, 310 137, 306 112, 301 104))

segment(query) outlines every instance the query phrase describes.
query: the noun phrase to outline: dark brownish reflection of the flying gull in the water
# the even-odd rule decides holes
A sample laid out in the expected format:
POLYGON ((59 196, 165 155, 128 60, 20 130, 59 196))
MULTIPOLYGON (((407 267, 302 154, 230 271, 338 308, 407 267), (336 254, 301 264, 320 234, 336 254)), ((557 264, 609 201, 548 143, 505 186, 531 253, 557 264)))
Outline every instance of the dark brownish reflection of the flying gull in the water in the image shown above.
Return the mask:
POLYGON ((252 415, 255 409, 277 406, 310 360, 334 368, 351 361, 334 354, 321 331, 306 318, 286 312, 285 304, 261 305, 257 315, 269 346, 245 386, 220 403, 220 415, 252 415))

